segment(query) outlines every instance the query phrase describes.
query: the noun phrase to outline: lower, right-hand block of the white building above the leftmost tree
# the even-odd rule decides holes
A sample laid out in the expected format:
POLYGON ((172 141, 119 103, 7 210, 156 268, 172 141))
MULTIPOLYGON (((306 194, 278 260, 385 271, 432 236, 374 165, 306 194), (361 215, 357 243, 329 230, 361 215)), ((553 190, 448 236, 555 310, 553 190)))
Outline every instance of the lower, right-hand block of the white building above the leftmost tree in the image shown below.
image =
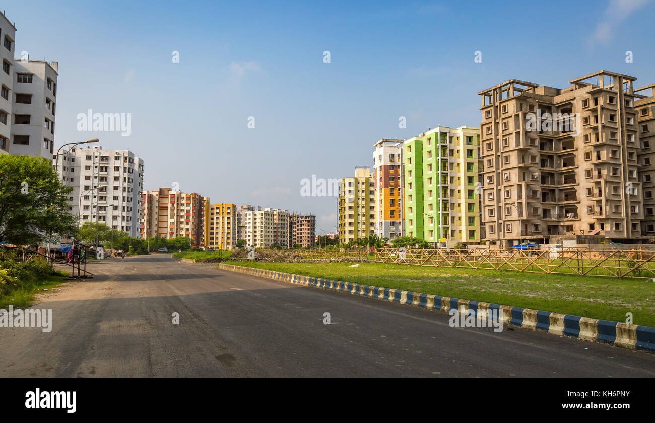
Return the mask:
POLYGON ((57 68, 56 61, 14 61, 11 154, 52 159, 57 68))

